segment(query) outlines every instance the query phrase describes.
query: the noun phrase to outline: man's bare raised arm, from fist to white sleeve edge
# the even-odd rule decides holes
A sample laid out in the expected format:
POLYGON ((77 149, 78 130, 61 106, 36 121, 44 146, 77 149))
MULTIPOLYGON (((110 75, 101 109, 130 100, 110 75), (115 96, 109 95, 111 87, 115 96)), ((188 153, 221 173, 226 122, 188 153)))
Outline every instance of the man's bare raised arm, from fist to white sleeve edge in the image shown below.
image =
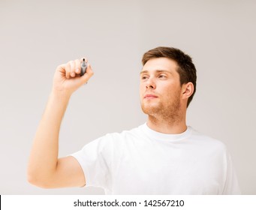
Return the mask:
POLYGON ((86 184, 83 170, 74 157, 58 157, 59 130, 68 101, 73 92, 93 75, 88 64, 86 74, 80 77, 82 62, 83 59, 77 59, 56 68, 53 89, 29 157, 28 181, 38 187, 80 187, 86 184))

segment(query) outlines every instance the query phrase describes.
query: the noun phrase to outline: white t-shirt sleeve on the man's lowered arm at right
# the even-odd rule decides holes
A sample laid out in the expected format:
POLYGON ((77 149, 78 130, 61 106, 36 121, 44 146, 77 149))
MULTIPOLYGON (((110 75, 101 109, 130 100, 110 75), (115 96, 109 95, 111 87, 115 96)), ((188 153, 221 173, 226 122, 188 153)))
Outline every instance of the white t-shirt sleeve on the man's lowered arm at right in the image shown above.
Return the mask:
POLYGON ((225 195, 239 195, 241 190, 239 188, 239 182, 236 177, 235 169, 233 168, 233 163, 230 154, 227 153, 227 173, 226 180, 224 184, 223 193, 225 195))

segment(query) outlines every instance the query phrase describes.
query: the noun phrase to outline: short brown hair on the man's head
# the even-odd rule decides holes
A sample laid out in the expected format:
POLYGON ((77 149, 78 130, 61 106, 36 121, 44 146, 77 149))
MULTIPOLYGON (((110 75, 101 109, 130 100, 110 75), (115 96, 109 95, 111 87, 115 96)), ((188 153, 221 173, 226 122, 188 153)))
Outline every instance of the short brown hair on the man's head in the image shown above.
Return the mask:
POLYGON ((167 46, 158 46, 154 49, 150 49, 148 52, 145 52, 142 58, 142 64, 145 65, 152 58, 170 58, 177 63, 179 68, 177 72, 179 74, 179 82, 180 85, 185 83, 193 83, 194 92, 188 98, 188 105, 192 101, 194 97, 194 93, 196 92, 197 86, 197 70, 192 62, 192 58, 189 55, 186 55, 180 49, 176 49, 173 47, 167 46))

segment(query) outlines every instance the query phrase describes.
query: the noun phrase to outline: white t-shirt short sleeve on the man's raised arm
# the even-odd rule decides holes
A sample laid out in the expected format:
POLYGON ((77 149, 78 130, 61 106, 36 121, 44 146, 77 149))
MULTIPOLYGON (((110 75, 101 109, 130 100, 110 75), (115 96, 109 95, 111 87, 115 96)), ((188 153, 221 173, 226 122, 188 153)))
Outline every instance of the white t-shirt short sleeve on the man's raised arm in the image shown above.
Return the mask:
POLYGON ((109 189, 111 181, 112 143, 109 134, 86 144, 80 151, 71 154, 83 169, 86 186, 109 189))

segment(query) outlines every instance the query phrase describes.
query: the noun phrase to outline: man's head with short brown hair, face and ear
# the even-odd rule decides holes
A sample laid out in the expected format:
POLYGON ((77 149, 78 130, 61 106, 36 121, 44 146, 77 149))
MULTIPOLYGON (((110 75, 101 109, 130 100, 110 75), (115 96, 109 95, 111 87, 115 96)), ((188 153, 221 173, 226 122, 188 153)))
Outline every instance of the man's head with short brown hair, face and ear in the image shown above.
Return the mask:
POLYGON ((143 112, 178 115, 196 91, 197 74, 191 57, 179 49, 159 46, 142 58, 140 98, 143 112), (148 95, 148 97, 145 97, 148 95), (152 97, 150 97, 152 95, 152 97))

